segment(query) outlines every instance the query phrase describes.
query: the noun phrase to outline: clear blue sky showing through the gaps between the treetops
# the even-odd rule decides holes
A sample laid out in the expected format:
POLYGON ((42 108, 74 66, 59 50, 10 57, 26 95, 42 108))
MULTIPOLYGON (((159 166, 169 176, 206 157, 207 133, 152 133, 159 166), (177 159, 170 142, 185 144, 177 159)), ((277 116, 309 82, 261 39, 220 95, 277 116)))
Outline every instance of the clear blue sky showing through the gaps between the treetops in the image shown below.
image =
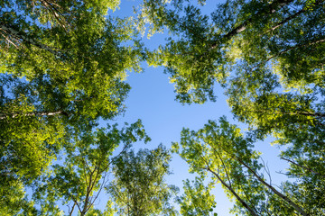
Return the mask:
MULTIPOLYGON (((135 1, 122 0, 120 9, 116 10, 115 14, 118 16, 132 14, 132 5, 135 4, 135 1)), ((218 4, 217 1, 207 1, 207 5, 203 7, 205 13, 210 14, 216 4, 218 4)), ((149 49, 154 49, 164 42, 164 37, 165 35, 158 34, 150 40, 144 38, 144 44, 149 49)), ((172 141, 180 140, 183 127, 199 130, 209 120, 218 120, 222 115, 226 115, 231 123, 238 123, 233 120, 223 89, 218 86, 215 88, 215 93, 218 96, 216 103, 182 105, 174 100, 174 87, 169 83, 168 75, 163 73, 163 67, 147 67, 144 64, 144 73, 130 73, 126 82, 131 85, 132 89, 125 101, 127 107, 125 114, 116 117, 116 121, 122 125, 125 121, 132 123, 141 119, 145 130, 152 138, 151 143, 147 145, 138 143, 136 148, 155 148, 160 143, 170 148, 172 141)), ((245 125, 241 125, 241 128, 244 130, 245 125)), ((279 154, 279 149, 272 147, 270 141, 272 139, 256 143, 256 149, 263 152, 262 157, 271 170, 273 183, 279 185, 283 180, 283 175, 279 175, 275 171, 284 172, 285 163, 276 157, 279 154)), ((175 184, 181 189, 181 181, 192 178, 193 175, 188 173, 188 166, 176 155, 172 159, 171 167, 174 174, 167 178, 168 183, 175 184)), ((230 215, 228 211, 232 204, 219 185, 214 193, 217 199, 215 211, 221 216, 230 215)))

